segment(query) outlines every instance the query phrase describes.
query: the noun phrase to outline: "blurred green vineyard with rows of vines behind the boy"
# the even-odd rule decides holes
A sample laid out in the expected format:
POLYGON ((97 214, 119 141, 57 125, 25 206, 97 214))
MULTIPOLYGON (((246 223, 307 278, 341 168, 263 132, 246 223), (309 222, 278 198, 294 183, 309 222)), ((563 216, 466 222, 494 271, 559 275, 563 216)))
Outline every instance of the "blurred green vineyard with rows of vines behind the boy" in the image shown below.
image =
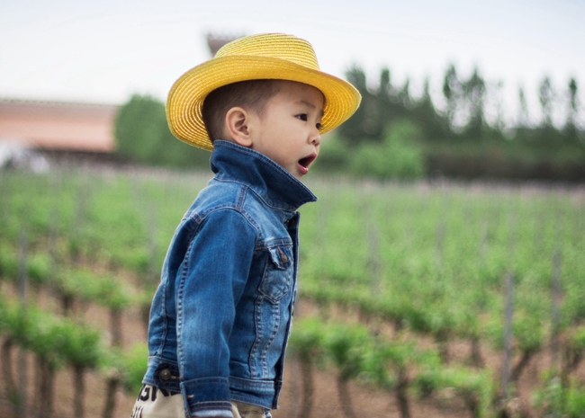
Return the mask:
MULTIPOLYGON (((0 174, 0 412, 130 415, 166 246, 209 178, 0 174)), ((308 185, 276 418, 585 414, 582 188, 308 185)))

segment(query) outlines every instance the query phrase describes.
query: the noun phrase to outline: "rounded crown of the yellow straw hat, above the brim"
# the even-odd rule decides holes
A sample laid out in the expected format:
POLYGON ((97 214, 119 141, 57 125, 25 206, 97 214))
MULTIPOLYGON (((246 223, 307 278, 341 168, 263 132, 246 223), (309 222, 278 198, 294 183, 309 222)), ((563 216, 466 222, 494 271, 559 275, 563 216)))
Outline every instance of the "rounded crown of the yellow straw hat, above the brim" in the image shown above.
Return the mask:
POLYGON ((319 70, 317 55, 311 43, 284 33, 264 33, 233 40, 215 54, 215 58, 229 56, 279 58, 319 70))

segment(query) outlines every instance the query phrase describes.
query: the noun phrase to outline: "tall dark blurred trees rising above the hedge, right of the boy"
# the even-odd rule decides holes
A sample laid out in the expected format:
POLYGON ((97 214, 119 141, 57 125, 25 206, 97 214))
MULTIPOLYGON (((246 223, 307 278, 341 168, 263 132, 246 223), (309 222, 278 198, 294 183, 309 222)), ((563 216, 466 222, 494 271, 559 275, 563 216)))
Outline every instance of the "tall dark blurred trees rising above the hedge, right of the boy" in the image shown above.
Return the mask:
MULTIPOLYGON (((363 102, 356 115, 341 128, 344 138, 381 139, 388 120, 406 118, 417 122, 425 138, 445 140, 465 138, 479 140, 498 133, 506 138, 516 138, 526 130, 558 130, 564 141, 579 142, 585 139, 585 120, 580 115, 578 85, 571 78, 566 91, 558 93, 550 77, 545 76, 538 86, 538 100, 542 108, 542 120, 535 121, 528 111, 524 88, 518 89, 518 116, 506 118, 504 103, 500 97, 503 84, 491 84, 485 80, 478 68, 469 78, 459 76, 454 65, 447 68, 442 84, 442 109, 437 108, 430 93, 428 79, 424 82, 419 97, 410 93, 410 79, 401 86, 392 84, 391 72, 383 68, 378 85, 367 83, 365 72, 354 67, 347 72, 347 79, 362 93, 363 102), (491 116, 488 107, 494 108, 491 116), (562 115, 561 126, 554 123, 562 115), (555 117, 557 116, 557 117, 555 117), (580 138, 581 135, 581 138, 580 138)), ((496 135, 498 136, 498 135, 496 135)), ((523 135, 520 135, 523 137, 523 135)), ((553 145, 558 137, 544 136, 547 145, 553 145)), ((526 139, 526 138, 520 138, 526 139)))

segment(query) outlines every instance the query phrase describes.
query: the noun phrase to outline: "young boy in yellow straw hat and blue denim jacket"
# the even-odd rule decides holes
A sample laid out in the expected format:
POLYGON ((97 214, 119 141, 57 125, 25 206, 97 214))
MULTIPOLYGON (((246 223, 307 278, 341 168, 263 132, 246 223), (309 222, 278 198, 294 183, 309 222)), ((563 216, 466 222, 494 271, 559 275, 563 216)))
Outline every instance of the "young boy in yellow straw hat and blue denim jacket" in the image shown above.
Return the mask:
POLYGON ((320 72, 311 44, 234 40, 173 85, 175 137, 212 150, 215 177, 175 230, 148 326, 133 417, 269 417, 283 382, 296 297, 300 180, 320 134, 360 102, 320 72))

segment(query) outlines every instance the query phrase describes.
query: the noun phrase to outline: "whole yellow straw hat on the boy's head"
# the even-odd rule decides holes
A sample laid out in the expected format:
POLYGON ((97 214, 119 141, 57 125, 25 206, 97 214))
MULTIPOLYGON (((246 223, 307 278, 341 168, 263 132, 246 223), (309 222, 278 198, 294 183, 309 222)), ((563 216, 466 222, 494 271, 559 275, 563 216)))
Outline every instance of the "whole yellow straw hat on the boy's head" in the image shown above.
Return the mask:
POLYGON ((291 80, 318 88, 325 96, 321 133, 347 120, 362 99, 352 84, 320 71, 309 42, 283 33, 264 33, 229 42, 215 58, 176 80, 166 101, 168 126, 187 144, 213 149, 202 120, 205 97, 222 85, 257 79, 291 80))

